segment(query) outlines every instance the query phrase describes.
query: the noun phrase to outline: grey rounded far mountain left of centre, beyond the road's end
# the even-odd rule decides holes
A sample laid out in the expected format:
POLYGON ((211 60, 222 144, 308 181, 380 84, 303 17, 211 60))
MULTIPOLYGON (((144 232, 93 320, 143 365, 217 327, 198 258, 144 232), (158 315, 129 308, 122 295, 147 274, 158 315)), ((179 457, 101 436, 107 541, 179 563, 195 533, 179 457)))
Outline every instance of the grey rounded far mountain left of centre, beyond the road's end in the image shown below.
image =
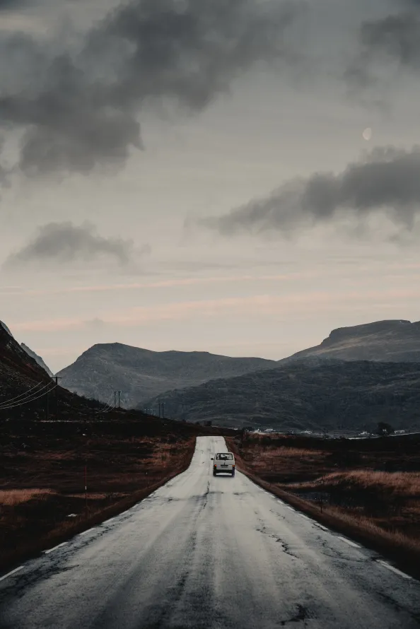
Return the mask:
MULTIPOLYGON (((121 391, 122 405, 143 408, 144 400, 169 389, 202 384, 214 378, 272 368, 274 360, 230 358, 208 352, 156 352, 122 343, 94 345, 57 375, 62 386, 101 401, 121 391)), ((156 408, 158 408, 156 406, 156 408)))

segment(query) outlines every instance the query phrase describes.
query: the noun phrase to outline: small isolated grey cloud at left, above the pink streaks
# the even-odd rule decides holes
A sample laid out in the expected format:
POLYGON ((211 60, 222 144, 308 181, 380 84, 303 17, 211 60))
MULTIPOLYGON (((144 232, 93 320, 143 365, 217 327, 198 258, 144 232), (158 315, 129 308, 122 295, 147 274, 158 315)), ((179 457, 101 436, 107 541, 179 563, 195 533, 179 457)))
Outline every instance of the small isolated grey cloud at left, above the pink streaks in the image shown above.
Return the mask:
POLYGON ((48 223, 25 247, 11 254, 5 261, 6 268, 23 266, 32 262, 89 261, 103 256, 126 264, 132 258, 133 244, 121 238, 105 238, 95 232, 93 225, 73 225, 70 222, 48 223))

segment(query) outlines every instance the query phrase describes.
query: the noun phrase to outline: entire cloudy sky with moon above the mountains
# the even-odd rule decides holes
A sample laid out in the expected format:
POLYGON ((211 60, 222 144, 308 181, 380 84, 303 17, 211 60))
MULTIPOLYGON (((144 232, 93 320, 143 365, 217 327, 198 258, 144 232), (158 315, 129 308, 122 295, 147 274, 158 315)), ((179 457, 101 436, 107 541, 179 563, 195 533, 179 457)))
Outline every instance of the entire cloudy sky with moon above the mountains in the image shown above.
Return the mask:
POLYGON ((417 320, 420 3, 0 1, 0 319, 283 358, 417 320))

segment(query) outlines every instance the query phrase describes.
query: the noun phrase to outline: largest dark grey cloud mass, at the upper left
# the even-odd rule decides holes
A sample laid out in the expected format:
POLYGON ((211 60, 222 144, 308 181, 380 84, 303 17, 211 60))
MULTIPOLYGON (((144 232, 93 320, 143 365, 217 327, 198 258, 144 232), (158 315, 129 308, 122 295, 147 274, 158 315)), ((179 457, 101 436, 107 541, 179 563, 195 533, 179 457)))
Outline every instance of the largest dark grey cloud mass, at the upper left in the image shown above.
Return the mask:
POLYGON ((41 64, 40 82, 0 95, 0 125, 24 130, 26 175, 120 165, 141 148, 137 116, 170 98, 197 112, 258 61, 291 60, 286 30, 300 4, 136 0, 86 35, 77 55, 41 64))

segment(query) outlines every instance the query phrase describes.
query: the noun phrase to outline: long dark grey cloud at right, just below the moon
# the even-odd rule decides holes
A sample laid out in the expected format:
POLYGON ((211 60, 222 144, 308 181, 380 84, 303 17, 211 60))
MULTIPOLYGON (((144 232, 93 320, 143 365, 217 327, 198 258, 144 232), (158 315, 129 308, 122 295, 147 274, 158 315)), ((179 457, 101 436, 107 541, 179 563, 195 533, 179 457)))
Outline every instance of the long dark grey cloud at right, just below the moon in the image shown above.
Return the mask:
POLYGON ((382 148, 338 175, 317 172, 288 182, 265 199, 205 219, 204 225, 225 234, 287 232, 332 221, 341 212, 363 220, 385 211, 397 225, 409 229, 420 213, 419 173, 420 147, 412 151, 382 148))

